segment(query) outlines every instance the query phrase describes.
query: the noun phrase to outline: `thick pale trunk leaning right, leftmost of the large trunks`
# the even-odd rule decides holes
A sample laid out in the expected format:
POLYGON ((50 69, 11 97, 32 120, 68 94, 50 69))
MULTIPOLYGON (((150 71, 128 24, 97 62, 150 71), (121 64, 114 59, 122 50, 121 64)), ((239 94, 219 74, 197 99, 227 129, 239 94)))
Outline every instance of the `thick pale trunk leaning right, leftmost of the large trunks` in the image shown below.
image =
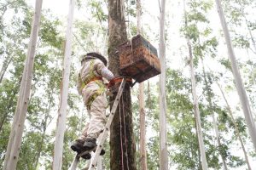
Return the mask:
POLYGON ((16 106, 14 122, 9 136, 7 152, 4 158, 4 170, 15 170, 17 166, 17 161, 20 152, 21 137, 24 130, 24 122, 26 119, 27 105, 31 92, 32 70, 36 51, 36 43, 38 40, 38 27, 41 17, 41 9, 42 0, 37 0, 35 14, 32 22, 32 31, 28 46, 29 48, 26 54, 26 65, 24 67, 22 75, 20 93, 16 106))

